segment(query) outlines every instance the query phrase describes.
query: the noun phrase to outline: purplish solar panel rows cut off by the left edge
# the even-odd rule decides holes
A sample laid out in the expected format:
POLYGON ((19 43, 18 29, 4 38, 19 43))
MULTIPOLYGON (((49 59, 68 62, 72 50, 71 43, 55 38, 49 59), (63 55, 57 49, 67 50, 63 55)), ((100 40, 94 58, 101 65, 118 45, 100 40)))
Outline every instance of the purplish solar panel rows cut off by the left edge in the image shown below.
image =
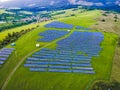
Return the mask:
POLYGON ((3 65, 13 52, 13 48, 3 48, 0 50, 0 65, 3 65))

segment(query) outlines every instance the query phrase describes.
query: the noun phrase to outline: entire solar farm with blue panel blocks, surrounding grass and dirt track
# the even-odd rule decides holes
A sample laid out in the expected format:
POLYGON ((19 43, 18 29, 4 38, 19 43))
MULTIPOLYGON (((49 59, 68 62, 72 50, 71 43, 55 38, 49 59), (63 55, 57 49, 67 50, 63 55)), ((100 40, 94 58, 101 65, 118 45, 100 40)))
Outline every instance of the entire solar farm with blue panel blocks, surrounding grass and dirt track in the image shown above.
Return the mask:
POLYGON ((0 89, 89 90, 94 81, 109 80, 117 35, 91 28, 100 15, 87 11, 40 22, 14 48, 1 49, 0 89))

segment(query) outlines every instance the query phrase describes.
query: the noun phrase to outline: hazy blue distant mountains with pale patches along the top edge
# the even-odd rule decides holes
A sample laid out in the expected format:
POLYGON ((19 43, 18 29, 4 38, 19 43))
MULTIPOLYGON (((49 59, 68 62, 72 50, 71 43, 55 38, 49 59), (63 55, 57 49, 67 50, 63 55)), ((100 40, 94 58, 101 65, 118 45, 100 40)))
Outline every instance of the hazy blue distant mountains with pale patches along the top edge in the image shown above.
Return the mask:
POLYGON ((95 7, 116 7, 120 9, 120 0, 8 0, 0 2, 2 8, 45 8, 85 5, 95 7))

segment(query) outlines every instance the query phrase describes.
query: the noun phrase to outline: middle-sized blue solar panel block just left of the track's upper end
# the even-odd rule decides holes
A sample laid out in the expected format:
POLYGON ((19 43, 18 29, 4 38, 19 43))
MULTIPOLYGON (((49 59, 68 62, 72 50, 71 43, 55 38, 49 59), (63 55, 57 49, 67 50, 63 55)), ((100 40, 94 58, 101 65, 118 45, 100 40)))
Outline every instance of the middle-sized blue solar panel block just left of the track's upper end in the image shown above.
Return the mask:
POLYGON ((39 34, 39 36, 43 36, 43 38, 38 39, 37 41, 40 42, 51 42, 57 38, 60 38, 64 35, 68 34, 67 31, 60 31, 60 30, 47 30, 39 34))

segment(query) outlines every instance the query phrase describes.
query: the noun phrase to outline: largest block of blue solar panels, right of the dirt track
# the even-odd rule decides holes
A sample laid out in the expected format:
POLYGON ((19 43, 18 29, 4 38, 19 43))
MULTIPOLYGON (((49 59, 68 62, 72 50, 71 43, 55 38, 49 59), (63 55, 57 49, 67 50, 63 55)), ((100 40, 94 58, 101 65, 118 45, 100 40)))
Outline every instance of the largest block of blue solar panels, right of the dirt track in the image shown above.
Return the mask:
POLYGON ((104 36, 100 32, 75 31, 60 40, 56 50, 42 49, 26 60, 25 67, 32 72, 73 72, 95 74, 91 60, 99 56, 100 43, 104 36))

